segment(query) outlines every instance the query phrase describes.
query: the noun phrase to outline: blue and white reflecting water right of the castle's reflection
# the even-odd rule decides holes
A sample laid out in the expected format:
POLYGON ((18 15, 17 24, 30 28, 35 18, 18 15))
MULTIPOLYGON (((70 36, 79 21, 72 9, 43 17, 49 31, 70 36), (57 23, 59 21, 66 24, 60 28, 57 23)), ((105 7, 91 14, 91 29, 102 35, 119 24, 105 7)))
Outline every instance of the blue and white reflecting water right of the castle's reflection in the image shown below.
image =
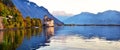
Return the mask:
POLYGON ((119 26, 62 26, 37 50, 119 50, 119 26))

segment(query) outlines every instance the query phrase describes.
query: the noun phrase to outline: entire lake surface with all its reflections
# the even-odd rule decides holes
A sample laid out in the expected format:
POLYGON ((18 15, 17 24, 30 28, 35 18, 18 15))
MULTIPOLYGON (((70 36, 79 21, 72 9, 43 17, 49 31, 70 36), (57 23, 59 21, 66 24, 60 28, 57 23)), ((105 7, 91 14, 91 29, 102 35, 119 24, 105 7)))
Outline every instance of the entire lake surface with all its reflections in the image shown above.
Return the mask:
POLYGON ((119 26, 58 26, 0 32, 0 50, 119 49, 119 26))

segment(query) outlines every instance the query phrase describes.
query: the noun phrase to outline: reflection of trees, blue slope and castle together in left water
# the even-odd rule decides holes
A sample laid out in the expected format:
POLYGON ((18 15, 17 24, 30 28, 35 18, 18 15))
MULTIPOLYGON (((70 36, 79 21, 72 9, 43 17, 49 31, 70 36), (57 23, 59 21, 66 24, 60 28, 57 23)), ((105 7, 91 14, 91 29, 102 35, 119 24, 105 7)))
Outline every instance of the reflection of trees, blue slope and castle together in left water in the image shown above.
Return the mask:
POLYGON ((54 27, 0 31, 0 50, 31 50, 49 46, 54 27))

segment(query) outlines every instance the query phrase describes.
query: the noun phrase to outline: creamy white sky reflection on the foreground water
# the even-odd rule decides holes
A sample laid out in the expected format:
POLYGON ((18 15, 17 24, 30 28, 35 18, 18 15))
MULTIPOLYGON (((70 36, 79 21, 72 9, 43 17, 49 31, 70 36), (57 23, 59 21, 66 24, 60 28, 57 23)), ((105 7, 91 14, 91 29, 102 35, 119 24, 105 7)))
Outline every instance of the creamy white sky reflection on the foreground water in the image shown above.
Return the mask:
POLYGON ((51 46, 37 50, 119 50, 120 41, 107 41, 105 39, 84 39, 76 35, 61 35, 51 38, 51 46), (64 38, 64 39, 63 39, 64 38))

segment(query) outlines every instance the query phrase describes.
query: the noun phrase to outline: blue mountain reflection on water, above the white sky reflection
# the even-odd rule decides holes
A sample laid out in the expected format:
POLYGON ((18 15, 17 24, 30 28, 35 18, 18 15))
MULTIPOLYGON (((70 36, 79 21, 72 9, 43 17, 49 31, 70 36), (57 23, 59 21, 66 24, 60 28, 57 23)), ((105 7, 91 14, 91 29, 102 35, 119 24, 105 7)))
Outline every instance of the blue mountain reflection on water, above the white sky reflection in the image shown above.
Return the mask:
POLYGON ((79 35, 85 39, 94 37, 104 38, 106 40, 117 41, 120 40, 120 27, 119 26, 66 26, 60 27, 56 35, 79 35))

